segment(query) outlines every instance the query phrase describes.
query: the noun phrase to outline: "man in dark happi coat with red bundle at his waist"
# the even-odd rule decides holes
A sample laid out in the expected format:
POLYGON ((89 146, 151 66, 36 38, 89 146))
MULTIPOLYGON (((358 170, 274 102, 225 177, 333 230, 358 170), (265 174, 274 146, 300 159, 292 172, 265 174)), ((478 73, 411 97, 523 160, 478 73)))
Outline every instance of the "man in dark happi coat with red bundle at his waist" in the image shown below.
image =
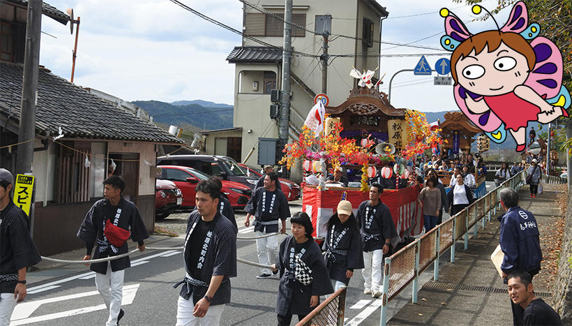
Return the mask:
MULTIPOLYGON (((126 240, 129 235, 133 242, 137 242, 137 249, 144 251, 143 240, 149 237, 149 233, 139 209, 133 202, 121 196, 125 181, 121 177, 112 175, 103 181, 103 186, 105 199, 93 204, 77 232, 77 237, 86 243, 84 260, 91 259, 94 244, 96 252, 93 253, 93 259, 127 253, 126 240)), ((123 317, 124 311, 121 309, 123 277, 128 267, 131 267, 128 256, 109 262, 96 262, 89 267, 96 272, 96 288, 110 311, 107 326, 118 325, 123 317)))

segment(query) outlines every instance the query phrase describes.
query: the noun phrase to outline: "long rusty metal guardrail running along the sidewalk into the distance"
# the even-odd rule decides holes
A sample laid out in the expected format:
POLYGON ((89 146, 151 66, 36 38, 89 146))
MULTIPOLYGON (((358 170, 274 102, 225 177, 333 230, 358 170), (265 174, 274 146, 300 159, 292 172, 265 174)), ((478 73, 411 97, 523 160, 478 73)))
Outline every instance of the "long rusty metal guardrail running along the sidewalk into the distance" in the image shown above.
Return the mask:
POLYGON ((382 311, 379 325, 386 325, 389 302, 405 289, 409 283, 412 283, 413 287, 412 302, 417 302, 419 274, 433 262, 433 279, 437 281, 439 279, 439 256, 451 249, 451 262, 455 262, 456 243, 464 238, 465 250, 467 250, 470 228, 473 228, 474 237, 476 238, 479 227, 477 223, 481 221, 482 228, 485 228, 486 221, 490 222, 491 214, 497 214, 497 208, 500 208, 500 191, 506 187, 513 187, 518 191, 525 184, 525 178, 525 171, 519 172, 455 216, 451 216, 451 218, 437 225, 419 239, 400 249, 400 251, 393 253, 390 257, 385 258, 382 311))

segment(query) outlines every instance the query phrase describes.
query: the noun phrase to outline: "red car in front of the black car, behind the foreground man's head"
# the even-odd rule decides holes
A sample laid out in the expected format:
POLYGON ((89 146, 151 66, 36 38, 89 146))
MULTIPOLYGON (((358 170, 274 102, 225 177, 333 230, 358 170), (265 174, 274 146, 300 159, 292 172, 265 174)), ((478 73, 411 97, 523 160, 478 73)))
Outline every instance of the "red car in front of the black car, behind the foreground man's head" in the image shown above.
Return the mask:
MULTIPOLYGON (((195 207, 195 188, 199 181, 209 179, 210 176, 199 170, 179 165, 159 165, 161 179, 173 181, 183 192, 183 208, 195 207)), ((253 191, 250 187, 239 182, 223 180, 223 193, 228 198, 232 208, 243 209, 250 199, 253 191)))

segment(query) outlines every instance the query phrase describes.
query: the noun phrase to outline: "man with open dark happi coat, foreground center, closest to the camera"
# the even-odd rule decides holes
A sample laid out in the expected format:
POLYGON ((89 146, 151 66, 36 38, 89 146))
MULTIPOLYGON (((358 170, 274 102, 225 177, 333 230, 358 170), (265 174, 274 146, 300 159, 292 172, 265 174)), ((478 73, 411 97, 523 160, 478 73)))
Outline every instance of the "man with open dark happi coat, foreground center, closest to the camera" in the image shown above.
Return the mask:
POLYGON ((236 232, 218 212, 215 182, 200 181, 197 210, 188 218, 183 257, 186 275, 177 302, 176 325, 219 325, 230 302, 230 280, 236 276, 236 232))

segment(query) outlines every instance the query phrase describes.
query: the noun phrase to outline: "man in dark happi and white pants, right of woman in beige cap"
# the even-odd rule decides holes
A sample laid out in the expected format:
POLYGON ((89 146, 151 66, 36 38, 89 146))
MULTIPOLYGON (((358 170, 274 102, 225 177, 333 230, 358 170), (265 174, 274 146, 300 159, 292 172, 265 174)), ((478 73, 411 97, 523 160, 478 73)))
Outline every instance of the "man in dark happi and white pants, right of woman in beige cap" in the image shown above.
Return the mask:
POLYGON ((370 200, 361 202, 357 212, 357 223, 363 245, 363 294, 381 297, 382 259, 389 253, 391 239, 397 237, 391 212, 379 197, 383 188, 379 184, 370 186, 370 200))

